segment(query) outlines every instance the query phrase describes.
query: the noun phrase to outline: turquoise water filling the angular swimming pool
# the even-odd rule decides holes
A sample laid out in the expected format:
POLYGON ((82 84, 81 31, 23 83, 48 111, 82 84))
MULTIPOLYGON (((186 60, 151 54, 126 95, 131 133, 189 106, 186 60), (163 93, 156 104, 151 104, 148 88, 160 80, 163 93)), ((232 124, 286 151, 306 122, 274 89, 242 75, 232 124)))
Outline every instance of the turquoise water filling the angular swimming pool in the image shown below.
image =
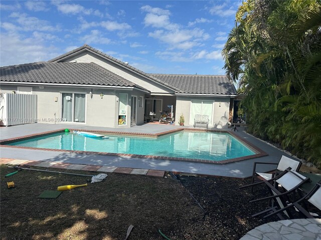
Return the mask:
POLYGON ((255 154, 230 134, 216 132, 180 131, 157 138, 109 135, 107 139, 63 132, 13 142, 9 145, 187 157, 213 161, 255 154))

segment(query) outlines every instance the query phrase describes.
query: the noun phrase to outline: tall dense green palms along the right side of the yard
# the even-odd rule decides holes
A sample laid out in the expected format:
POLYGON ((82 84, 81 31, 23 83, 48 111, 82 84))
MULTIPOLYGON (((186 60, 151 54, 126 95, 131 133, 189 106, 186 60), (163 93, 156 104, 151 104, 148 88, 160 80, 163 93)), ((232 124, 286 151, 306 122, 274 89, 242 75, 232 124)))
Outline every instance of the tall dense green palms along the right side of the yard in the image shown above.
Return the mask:
POLYGON ((249 130, 321 166, 321 1, 247 0, 222 55, 249 130))

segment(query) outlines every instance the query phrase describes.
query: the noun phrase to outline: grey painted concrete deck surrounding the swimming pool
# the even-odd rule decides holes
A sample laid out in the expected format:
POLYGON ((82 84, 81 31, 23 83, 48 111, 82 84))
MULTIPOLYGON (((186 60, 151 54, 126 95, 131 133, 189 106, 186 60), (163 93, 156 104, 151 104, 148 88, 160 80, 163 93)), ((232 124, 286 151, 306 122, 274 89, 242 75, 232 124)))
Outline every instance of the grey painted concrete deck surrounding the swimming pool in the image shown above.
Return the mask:
MULTIPOLYGON (((152 124, 147 123, 137 125, 130 128, 110 128, 110 127, 95 127, 80 124, 45 124, 45 123, 32 123, 17 126, 0 127, 0 140, 25 136, 29 134, 41 133, 45 131, 57 130, 61 128, 77 128, 84 130, 104 130, 104 131, 119 131, 119 132, 140 132, 140 133, 159 133, 169 131, 182 126, 166 125, 166 124, 152 124)), ((204 129, 204 128, 200 128, 204 129)), ((218 130, 218 129, 215 129, 218 130)), ((230 130, 230 129, 225 129, 230 130)), ((247 140, 251 144, 259 147, 266 153, 267 156, 259 158, 252 158, 238 162, 232 162, 224 165, 184 162, 184 161, 171 161, 163 159, 148 159, 148 158, 134 158, 128 156, 110 156, 110 155, 97 155, 97 154, 83 154, 75 152, 59 152, 47 151, 38 149, 23 149, 23 148, 10 148, 1 146, 0 157, 20 160, 31 161, 45 161, 43 164, 46 166, 50 163, 60 164, 86 164, 99 167, 125 167, 125 168, 138 168, 162 171, 175 171, 186 172, 195 174, 206 174, 215 176, 228 176, 244 178, 252 175, 253 162, 275 162, 277 163, 282 154, 289 156, 283 151, 263 142, 243 131, 242 127, 238 127, 235 132, 240 138, 247 140)), ((291 157, 291 156, 289 156, 291 157)), ((22 162, 24 162, 22 161, 22 162)), ((258 168, 260 171, 267 171, 273 169, 271 165, 262 165, 258 168)))

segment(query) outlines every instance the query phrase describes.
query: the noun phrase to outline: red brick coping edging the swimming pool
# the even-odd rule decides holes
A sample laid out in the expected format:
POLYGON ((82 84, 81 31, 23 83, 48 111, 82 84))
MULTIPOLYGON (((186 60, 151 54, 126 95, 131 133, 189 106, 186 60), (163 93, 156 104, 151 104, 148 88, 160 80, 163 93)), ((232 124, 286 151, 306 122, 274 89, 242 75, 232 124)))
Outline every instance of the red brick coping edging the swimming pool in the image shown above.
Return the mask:
POLYGON ((220 161, 213 161, 213 160, 205 160, 205 159, 197 159, 197 158, 187 158, 187 157, 169 157, 169 156, 157 156, 157 155, 141 155, 141 154, 128 154, 128 153, 113 153, 113 152, 98 152, 98 151, 81 151, 81 150, 66 150, 66 149, 51 149, 51 148, 39 148, 39 147, 28 147, 28 146, 14 146, 14 145, 6 145, 7 143, 12 143, 20 140, 31 139, 39 136, 50 135, 54 133, 64 132, 65 128, 60 128, 57 130, 52 131, 45 131, 35 134, 29 134, 25 136, 13 137, 8 139, 0 140, 0 145, 2 147, 11 147, 11 148, 23 148, 23 149, 31 149, 31 150, 45 150, 45 151, 59 151, 59 152, 73 152, 73 153, 82 153, 82 154, 96 154, 96 155, 109 155, 109 156, 126 156, 126 157, 134 157, 134 158, 150 158, 150 159, 163 159, 163 160, 172 160, 172 161, 187 161, 187 162, 199 162, 199 163, 209 163, 209 164, 227 164, 231 162, 237 162, 252 158, 257 158, 261 156, 267 156, 268 154, 260 149, 259 147, 255 146, 254 144, 250 143, 249 141, 242 139, 240 136, 235 134, 234 132, 226 131, 226 130, 208 130, 208 129, 195 129, 195 128, 178 128, 169 131, 163 131, 159 133, 140 133, 140 132, 119 132, 119 131, 104 131, 104 130, 85 130, 85 129, 73 129, 70 128, 70 131, 80 130, 86 132, 97 132, 97 133, 104 133, 104 134, 112 134, 112 135, 126 135, 126 136, 145 136, 145 137, 152 137, 157 138, 158 136, 178 132, 178 131, 197 131, 197 132, 219 132, 219 133, 228 133, 233 137, 237 138, 247 147, 249 147, 255 154, 248 155, 248 156, 241 156, 230 158, 226 160, 220 161))

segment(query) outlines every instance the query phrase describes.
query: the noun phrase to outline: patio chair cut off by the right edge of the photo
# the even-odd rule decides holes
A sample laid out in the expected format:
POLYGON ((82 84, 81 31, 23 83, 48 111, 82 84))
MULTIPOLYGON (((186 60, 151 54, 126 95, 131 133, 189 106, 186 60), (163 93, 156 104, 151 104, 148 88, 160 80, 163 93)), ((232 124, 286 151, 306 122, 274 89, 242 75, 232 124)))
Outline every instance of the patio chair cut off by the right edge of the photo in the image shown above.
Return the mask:
POLYGON ((314 205, 319 210, 321 210, 321 181, 317 182, 315 186, 308 193, 306 193, 303 197, 301 197, 297 201, 294 201, 293 203, 288 204, 285 207, 282 207, 281 209, 275 210, 265 215, 264 218, 278 214, 290 207, 295 207, 301 214, 303 214, 307 218, 314 218, 314 216, 312 216, 310 212, 306 210, 306 208, 300 205, 300 203, 304 203, 304 201, 310 202, 312 205, 314 205))

